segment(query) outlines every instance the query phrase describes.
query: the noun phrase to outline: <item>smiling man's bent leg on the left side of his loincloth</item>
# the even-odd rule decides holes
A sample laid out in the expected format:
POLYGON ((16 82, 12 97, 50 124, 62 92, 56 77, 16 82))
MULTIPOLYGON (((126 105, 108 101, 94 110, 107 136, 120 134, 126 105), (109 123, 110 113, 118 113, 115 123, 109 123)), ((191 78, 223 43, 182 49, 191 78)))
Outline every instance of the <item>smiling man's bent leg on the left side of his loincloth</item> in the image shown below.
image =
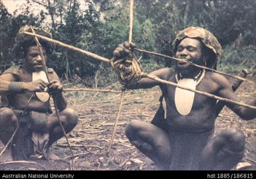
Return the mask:
POLYGON ((168 170, 171 157, 168 133, 143 121, 133 120, 126 127, 130 143, 148 156, 160 170, 168 170))

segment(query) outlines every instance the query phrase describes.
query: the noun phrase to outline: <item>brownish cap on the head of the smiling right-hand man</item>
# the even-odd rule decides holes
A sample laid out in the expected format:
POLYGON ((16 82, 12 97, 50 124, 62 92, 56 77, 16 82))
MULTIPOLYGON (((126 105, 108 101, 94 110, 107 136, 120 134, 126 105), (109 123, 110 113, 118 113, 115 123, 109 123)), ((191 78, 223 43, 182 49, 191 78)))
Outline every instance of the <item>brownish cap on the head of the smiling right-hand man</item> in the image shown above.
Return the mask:
POLYGON ((187 29, 180 31, 172 43, 172 52, 174 54, 176 53, 178 44, 180 44, 184 38, 196 38, 200 40, 209 50, 211 50, 211 52, 215 54, 215 57, 211 59, 211 62, 208 62, 208 67, 212 68, 217 64, 217 60, 220 58, 223 51, 221 44, 219 44, 219 41, 211 32, 201 27, 188 27, 187 29))

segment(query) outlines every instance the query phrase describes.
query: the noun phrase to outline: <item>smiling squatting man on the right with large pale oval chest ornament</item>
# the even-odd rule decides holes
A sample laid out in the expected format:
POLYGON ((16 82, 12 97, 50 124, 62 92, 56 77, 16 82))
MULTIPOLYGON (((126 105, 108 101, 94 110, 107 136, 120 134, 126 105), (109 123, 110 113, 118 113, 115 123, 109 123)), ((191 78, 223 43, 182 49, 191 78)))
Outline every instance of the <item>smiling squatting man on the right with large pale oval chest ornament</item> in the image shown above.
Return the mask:
MULTIPOLYGON (((124 42, 114 50, 114 59, 130 58, 133 48, 133 43, 124 42)), ((200 27, 189 27, 177 34, 173 52, 176 58, 216 68, 222 50, 211 32, 200 27)), ((115 68, 121 72, 123 70, 124 76, 129 65, 118 66, 117 63, 115 68)), ((175 62, 173 68, 156 70, 150 75, 192 90, 240 101, 224 76, 186 62, 175 62)), ((232 127, 214 136, 216 99, 164 85, 150 78, 142 78, 133 84, 123 80, 122 84, 128 89, 160 86, 162 90, 160 108, 152 123, 133 120, 126 127, 129 141, 160 169, 229 170, 243 158, 245 135, 242 131, 232 127), (162 107, 163 98, 166 101, 166 118, 162 107)), ((250 104, 256 105, 256 100, 250 104)), ((245 120, 256 117, 253 109, 233 103, 225 105, 245 120)))

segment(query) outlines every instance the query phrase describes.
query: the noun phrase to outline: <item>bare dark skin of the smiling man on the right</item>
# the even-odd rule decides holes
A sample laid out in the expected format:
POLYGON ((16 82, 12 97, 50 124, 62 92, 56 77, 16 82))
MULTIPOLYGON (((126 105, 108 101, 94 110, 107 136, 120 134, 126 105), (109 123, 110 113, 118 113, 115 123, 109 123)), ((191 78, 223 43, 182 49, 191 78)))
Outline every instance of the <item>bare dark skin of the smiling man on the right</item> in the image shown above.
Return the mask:
MULTIPOLYGON (((116 50, 116 59, 125 58, 134 48, 133 43, 124 42, 116 50)), ((176 58, 186 58, 187 60, 203 66, 205 64, 205 46, 196 38, 184 38, 178 44, 176 58)), ((169 68, 156 70, 150 75, 162 80, 169 80, 176 83, 175 75, 182 73, 184 78, 194 78, 199 73, 200 68, 196 68, 186 62, 176 62, 174 72, 170 73, 169 68), (168 74, 169 78, 168 77, 168 74)), ((136 84, 126 86, 128 89, 152 88, 160 86, 162 92, 164 85, 149 78, 142 78, 136 84)), ((135 147, 151 158, 162 170, 168 170, 172 158, 172 143, 170 143, 170 131, 200 132, 214 129, 215 125, 215 105, 216 99, 195 93, 192 111, 188 115, 181 115, 176 109, 174 102, 176 88, 166 86, 166 117, 168 131, 144 121, 133 120, 126 127, 126 136, 135 147)), ((196 90, 205 91, 220 97, 241 101, 233 92, 229 81, 220 74, 206 71, 203 80, 197 85, 196 90)), ((256 100, 250 105, 256 105, 256 100)), ((233 103, 226 103, 227 107, 234 111, 239 117, 245 120, 256 117, 255 110, 233 103)), ((235 166, 245 152, 245 135, 236 128, 229 128, 220 131, 213 139, 207 141, 203 147, 198 170, 229 170, 235 166), (225 151, 225 152, 223 152, 225 151)))

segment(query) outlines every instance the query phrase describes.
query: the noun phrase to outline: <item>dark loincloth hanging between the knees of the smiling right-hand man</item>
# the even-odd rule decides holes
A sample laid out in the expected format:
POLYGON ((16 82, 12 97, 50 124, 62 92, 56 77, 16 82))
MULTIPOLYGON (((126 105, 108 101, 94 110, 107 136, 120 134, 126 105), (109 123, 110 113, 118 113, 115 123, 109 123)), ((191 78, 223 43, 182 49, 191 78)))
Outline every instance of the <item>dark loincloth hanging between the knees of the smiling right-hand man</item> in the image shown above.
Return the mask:
POLYGON ((214 129, 198 133, 170 131, 170 170, 199 170, 201 152, 212 139, 214 129))

